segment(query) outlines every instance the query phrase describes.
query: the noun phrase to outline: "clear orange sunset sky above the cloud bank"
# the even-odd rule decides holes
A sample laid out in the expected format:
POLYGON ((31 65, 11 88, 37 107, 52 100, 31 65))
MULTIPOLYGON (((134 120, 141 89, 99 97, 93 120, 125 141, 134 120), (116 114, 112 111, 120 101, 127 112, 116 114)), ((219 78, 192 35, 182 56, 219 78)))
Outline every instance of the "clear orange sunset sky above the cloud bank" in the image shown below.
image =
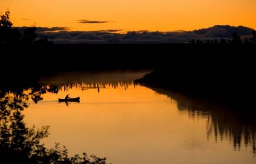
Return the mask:
POLYGON ((229 24, 256 29, 255 0, 1 0, 1 14, 6 10, 16 27, 165 32, 229 24))

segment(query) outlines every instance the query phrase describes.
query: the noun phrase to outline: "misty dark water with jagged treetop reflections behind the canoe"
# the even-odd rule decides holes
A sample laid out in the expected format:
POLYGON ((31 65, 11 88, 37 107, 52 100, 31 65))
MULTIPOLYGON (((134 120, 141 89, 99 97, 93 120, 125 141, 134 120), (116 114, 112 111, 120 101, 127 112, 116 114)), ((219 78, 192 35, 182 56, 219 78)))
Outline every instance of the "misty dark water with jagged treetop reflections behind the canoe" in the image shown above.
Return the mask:
POLYGON ((59 91, 69 91, 69 89, 101 89, 106 87, 123 87, 125 90, 129 86, 134 86, 133 80, 142 77, 148 70, 142 71, 111 71, 111 72, 72 72, 57 73, 39 80, 41 85, 57 88, 59 91))

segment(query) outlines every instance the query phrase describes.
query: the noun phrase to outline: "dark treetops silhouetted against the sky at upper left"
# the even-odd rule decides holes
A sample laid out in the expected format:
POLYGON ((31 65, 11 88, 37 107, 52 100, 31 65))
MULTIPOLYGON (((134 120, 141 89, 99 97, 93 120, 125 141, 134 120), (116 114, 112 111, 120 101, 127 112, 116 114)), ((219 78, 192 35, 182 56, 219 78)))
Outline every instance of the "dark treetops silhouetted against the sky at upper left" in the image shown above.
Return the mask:
POLYGON ((0 19, 0 44, 52 44, 48 38, 36 40, 37 27, 27 27, 21 32, 13 27, 10 21, 10 12, 5 12, 0 19))

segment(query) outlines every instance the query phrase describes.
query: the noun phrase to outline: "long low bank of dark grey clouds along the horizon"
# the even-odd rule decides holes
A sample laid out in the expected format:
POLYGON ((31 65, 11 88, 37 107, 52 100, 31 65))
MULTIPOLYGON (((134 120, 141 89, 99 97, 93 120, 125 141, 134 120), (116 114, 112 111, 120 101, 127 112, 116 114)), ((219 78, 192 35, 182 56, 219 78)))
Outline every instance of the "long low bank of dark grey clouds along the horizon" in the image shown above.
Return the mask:
POLYGON ((232 33, 251 35, 247 27, 214 26, 208 29, 176 32, 133 31, 118 33, 122 30, 68 31, 65 27, 37 27, 38 39, 47 36, 56 44, 80 43, 187 43, 191 39, 231 39, 232 33))

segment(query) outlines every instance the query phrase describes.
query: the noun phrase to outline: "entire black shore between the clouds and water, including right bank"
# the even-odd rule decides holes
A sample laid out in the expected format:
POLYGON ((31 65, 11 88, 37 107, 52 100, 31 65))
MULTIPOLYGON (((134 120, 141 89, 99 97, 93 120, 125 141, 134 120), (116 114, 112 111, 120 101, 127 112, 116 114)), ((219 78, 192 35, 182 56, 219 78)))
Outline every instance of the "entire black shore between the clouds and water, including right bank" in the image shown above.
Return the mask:
POLYGON ((253 103, 255 44, 52 44, 0 46, 1 83, 57 72, 156 70, 137 83, 219 102, 253 103))

